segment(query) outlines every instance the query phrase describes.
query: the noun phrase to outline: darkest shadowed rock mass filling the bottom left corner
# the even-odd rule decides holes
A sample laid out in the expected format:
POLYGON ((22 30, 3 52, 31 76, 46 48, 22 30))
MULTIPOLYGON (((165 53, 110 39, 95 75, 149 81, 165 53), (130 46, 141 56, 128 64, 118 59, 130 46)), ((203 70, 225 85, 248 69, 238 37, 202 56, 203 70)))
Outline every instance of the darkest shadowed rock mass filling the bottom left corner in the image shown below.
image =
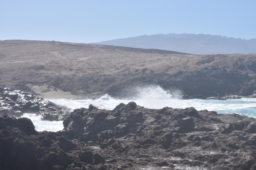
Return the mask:
POLYGON ((31 120, 0 114, 1 170, 106 170, 98 147, 58 132, 36 132, 31 120))

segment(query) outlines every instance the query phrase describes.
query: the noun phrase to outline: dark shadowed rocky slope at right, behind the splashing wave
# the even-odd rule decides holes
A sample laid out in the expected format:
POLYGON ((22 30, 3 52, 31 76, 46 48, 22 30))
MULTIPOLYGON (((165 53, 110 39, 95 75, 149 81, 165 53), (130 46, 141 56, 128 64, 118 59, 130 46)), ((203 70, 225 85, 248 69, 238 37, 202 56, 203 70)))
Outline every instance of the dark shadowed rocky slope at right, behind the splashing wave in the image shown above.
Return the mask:
MULTIPOLYGON (((206 56, 209 60, 214 57, 214 55, 206 56)), ((218 57, 223 60, 226 56, 219 55, 218 57)), ((240 60, 245 59, 240 58, 240 60)), ((256 61, 253 60, 251 62, 255 65, 256 61)), ((150 70, 131 72, 130 79, 119 84, 116 83, 106 93, 122 97, 124 89, 130 84, 150 84, 154 82, 166 90, 171 87, 181 89, 184 92, 185 99, 255 97, 256 79, 252 75, 255 76, 256 72, 249 69, 249 63, 251 62, 243 63, 244 69, 240 69, 240 65, 235 61, 231 60, 230 62, 234 62, 234 66, 229 69, 218 65, 210 65, 207 62, 199 62, 195 66, 200 67, 200 69, 197 68, 198 70, 185 70, 184 68, 184 70, 175 73, 154 73, 150 70), (139 74, 141 76, 138 76, 139 74)))

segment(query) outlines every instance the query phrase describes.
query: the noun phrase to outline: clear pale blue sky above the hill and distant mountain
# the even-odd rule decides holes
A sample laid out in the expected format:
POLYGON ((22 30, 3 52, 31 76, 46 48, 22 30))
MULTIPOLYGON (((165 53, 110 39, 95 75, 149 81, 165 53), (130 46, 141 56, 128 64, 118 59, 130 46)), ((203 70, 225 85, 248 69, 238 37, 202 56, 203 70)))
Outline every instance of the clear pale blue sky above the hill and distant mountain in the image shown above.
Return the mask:
POLYGON ((91 43, 157 33, 256 38, 256 0, 2 0, 0 40, 91 43))

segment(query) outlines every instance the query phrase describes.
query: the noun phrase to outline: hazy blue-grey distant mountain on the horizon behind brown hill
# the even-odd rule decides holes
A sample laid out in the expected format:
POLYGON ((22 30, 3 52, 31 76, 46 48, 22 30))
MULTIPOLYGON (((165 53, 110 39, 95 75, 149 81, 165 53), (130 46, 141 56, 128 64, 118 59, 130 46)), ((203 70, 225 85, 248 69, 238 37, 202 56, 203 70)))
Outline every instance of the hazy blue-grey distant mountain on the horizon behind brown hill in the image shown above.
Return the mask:
POLYGON ((114 46, 161 49, 192 54, 256 53, 256 38, 245 40, 221 35, 155 34, 97 42, 114 46))

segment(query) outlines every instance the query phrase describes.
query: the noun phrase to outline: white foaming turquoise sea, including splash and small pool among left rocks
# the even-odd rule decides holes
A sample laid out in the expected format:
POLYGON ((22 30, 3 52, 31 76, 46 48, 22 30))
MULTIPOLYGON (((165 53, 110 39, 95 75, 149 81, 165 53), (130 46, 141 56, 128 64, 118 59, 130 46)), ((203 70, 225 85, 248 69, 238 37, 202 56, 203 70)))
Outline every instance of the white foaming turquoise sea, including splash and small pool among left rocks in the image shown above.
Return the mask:
MULTIPOLYGON (((196 110, 216 111, 218 114, 232 114, 256 118, 256 98, 242 99, 183 99, 183 92, 180 89, 171 88, 165 90, 158 85, 136 86, 126 89, 123 97, 112 97, 105 94, 99 98, 84 99, 76 98, 53 98, 48 99, 60 106, 70 108, 70 112, 77 108, 88 108, 90 104, 99 109, 113 110, 118 104, 128 104, 133 101, 139 106, 151 109, 164 107, 187 108, 194 107, 196 110)), ((37 131, 53 131, 63 129, 63 121, 43 121, 40 115, 25 113, 22 117, 31 119, 37 131)))

